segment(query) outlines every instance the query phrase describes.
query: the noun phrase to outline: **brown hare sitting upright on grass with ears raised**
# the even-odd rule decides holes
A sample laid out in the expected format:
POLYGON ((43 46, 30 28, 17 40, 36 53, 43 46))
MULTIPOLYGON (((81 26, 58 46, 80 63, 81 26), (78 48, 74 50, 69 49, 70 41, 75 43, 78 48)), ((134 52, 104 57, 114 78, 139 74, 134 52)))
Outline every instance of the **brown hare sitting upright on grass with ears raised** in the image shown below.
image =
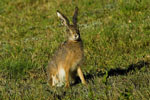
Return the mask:
POLYGON ((52 57, 47 67, 48 83, 51 86, 69 87, 69 79, 75 79, 78 76, 83 84, 86 84, 79 64, 81 63, 83 53, 83 43, 80 38, 80 32, 77 27, 78 8, 75 8, 73 15, 73 25, 61 12, 57 10, 57 16, 63 21, 67 28, 68 39, 65 41, 52 57))

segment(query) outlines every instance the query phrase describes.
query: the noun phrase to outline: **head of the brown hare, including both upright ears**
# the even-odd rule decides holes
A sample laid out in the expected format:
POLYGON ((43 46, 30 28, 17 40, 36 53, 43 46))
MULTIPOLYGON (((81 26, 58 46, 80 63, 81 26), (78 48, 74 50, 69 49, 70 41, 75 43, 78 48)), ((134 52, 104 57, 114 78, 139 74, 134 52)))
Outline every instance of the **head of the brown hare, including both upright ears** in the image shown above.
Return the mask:
POLYGON ((68 18, 63 15, 60 11, 57 10, 57 16, 63 21, 63 24, 67 27, 68 32, 68 39, 71 41, 79 41, 80 39, 80 32, 77 27, 77 15, 78 15, 78 8, 75 8, 75 12, 72 18, 73 24, 69 23, 68 18))

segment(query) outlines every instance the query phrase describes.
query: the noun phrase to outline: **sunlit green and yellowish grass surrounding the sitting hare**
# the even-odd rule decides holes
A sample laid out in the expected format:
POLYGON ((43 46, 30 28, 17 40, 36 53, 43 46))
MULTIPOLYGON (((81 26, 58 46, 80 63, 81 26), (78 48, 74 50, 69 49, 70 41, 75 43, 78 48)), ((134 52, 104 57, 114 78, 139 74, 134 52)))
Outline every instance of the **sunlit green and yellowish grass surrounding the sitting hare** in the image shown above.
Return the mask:
POLYGON ((149 100, 149 0, 1 0, 0 100, 149 100), (46 66, 79 7, 88 86, 47 85, 46 66))

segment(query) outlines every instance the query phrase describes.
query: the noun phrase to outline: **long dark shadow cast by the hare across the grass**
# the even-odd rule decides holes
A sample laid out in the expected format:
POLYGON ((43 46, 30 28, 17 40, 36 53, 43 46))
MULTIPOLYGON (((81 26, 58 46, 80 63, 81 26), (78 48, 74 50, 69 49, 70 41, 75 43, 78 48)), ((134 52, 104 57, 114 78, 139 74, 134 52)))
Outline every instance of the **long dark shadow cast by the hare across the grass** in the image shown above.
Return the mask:
MULTIPOLYGON (((126 69, 121 69, 121 68, 116 68, 116 69, 110 69, 108 71, 108 76, 107 77, 110 77, 110 76, 117 76, 117 75, 126 75, 127 73, 131 72, 131 71, 135 71, 136 69, 137 70, 140 70, 141 68, 143 68, 144 66, 149 66, 150 65, 150 62, 145 62, 145 61, 139 61, 137 62, 136 64, 131 64, 129 65, 126 69)), ((87 75, 85 75, 85 79, 87 81, 93 79, 94 77, 102 77, 104 76, 106 73, 103 73, 103 72, 98 72, 98 73, 88 73, 87 75)), ((79 77, 76 78, 76 82, 72 85, 75 85, 75 84, 78 84, 80 83, 80 79, 79 77)))

